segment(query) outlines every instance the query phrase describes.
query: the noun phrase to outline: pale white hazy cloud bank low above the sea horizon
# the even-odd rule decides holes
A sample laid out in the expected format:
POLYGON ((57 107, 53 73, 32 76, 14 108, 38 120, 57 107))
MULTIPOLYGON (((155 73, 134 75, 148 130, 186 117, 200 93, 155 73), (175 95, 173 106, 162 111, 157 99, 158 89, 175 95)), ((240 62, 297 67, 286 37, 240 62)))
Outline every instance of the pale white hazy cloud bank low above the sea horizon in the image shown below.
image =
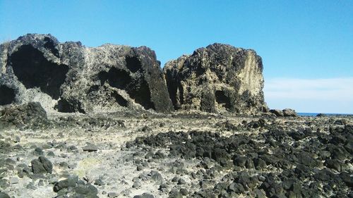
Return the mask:
POLYGON ((301 112, 353 113, 353 78, 265 80, 270 108, 301 112))

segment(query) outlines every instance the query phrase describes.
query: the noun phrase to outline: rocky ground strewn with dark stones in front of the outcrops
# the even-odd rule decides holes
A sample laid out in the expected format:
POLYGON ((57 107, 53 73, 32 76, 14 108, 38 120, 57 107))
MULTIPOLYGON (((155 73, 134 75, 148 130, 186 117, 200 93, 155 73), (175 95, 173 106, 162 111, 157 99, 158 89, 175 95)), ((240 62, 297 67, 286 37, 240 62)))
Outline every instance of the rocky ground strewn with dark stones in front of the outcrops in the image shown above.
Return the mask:
MULTIPOLYGON (((10 111, 11 110, 11 111, 10 111)), ((353 197, 353 117, 0 113, 0 197, 353 197)))

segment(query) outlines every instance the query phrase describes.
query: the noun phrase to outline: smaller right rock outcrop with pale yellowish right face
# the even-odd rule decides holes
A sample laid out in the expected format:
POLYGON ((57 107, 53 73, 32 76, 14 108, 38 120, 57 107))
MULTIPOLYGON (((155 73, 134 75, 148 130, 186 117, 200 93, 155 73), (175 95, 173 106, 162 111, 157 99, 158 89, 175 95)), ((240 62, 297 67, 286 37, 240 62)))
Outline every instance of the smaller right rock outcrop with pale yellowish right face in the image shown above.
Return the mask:
POLYGON ((164 66, 175 109, 256 113, 267 111, 263 64, 251 49, 211 44, 164 66))

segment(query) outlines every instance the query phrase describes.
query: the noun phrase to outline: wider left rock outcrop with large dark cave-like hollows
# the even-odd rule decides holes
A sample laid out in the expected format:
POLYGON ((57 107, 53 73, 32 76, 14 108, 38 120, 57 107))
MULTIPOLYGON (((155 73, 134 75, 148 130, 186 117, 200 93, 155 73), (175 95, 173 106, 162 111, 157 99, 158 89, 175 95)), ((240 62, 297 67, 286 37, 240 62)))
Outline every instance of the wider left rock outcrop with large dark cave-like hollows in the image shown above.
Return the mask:
POLYGON ((104 44, 59 43, 28 34, 0 45, 0 105, 40 101, 61 112, 172 110, 155 51, 104 44))

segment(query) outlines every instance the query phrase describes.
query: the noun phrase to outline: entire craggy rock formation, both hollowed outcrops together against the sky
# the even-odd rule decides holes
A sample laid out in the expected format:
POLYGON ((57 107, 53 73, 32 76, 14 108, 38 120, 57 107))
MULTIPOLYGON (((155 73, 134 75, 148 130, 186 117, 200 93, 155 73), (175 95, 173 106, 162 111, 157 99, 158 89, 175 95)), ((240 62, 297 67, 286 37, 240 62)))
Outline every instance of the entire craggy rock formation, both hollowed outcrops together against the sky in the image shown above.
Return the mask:
POLYGON ((67 113, 268 110, 261 57, 226 44, 169 61, 163 75, 148 47, 92 48, 28 34, 0 45, 0 69, 0 105, 39 101, 46 111, 67 113))

